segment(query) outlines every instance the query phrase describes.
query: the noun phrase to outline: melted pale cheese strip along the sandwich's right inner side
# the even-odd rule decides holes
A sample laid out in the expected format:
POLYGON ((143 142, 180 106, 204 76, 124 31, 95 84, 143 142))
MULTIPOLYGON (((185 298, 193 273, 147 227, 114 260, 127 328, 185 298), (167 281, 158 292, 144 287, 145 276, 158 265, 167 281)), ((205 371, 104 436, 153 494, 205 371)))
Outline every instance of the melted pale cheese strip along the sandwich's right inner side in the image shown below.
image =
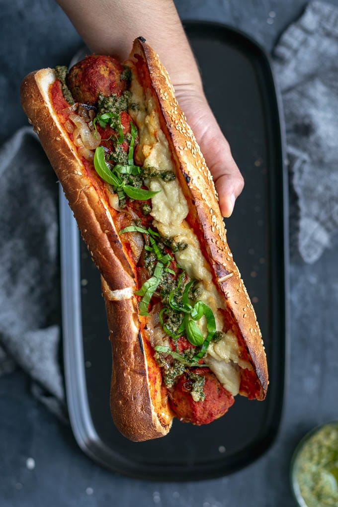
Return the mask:
MULTIPOLYGON (((174 171, 168 141, 161 130, 151 92, 148 90, 144 96, 143 88, 136 79, 132 79, 131 92, 132 102, 139 105, 138 110, 131 111, 130 115, 139 129, 143 165, 174 171)), ((211 308, 215 316, 216 330, 222 331, 223 319, 219 309, 224 309, 224 301, 212 281, 198 238, 185 221, 189 208, 177 179, 166 183, 160 178, 149 178, 145 184, 149 190, 159 192, 152 197, 151 214, 154 226, 163 236, 172 237, 176 242, 187 243, 187 248, 175 253, 176 261, 190 278, 199 280, 202 288, 200 299, 211 308)), ((199 325, 206 334, 205 319, 201 319, 199 325)), ((239 392, 240 368, 252 368, 239 358, 238 342, 231 331, 218 343, 210 343, 204 360, 219 382, 233 395, 239 392)))

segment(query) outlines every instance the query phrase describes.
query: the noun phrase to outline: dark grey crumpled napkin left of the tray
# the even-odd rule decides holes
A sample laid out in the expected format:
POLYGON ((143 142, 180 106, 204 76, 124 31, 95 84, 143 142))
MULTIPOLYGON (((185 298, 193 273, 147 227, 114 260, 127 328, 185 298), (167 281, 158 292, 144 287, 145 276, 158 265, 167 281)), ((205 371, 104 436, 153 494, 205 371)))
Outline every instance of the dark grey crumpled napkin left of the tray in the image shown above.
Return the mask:
POLYGON ((19 366, 61 415, 57 188, 36 134, 18 130, 0 150, 0 375, 19 366))

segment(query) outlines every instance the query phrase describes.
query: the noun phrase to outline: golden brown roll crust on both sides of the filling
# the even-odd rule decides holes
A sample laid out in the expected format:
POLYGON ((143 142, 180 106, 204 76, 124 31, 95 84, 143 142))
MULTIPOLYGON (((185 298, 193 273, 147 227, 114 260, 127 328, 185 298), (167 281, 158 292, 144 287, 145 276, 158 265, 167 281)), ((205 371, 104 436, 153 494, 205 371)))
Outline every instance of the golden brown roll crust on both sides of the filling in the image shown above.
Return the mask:
MULTIPOLYGON (((132 55, 144 59, 158 99, 161 124, 167 136, 178 177, 196 216, 201 247, 210 261, 214 279, 224 294, 234 332, 244 339, 264 399, 268 386, 267 362, 255 313, 233 262, 210 172, 174 97, 164 67, 154 51, 140 40, 132 55), (193 202, 196 205, 193 205, 193 202), (218 282, 217 282, 218 280, 218 282)), ((55 80, 52 69, 28 75, 21 86, 25 113, 62 184, 79 228, 102 275, 114 368, 111 379, 111 412, 119 430, 134 441, 165 435, 172 413, 163 391, 161 374, 153 355, 142 341, 142 322, 133 295, 135 276, 112 220, 111 208, 86 173, 76 149, 63 132, 52 110, 48 87, 55 80)))

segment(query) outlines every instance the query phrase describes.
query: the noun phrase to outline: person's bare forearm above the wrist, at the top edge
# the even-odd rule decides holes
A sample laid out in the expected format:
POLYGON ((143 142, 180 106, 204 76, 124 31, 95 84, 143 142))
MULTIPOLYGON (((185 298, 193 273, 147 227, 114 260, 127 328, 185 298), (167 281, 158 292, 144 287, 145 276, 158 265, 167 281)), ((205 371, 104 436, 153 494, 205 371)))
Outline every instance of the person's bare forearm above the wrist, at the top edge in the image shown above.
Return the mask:
POLYGON ((174 84, 201 88, 199 71, 172 0, 57 1, 91 51, 125 60, 131 42, 141 35, 159 54, 174 84))

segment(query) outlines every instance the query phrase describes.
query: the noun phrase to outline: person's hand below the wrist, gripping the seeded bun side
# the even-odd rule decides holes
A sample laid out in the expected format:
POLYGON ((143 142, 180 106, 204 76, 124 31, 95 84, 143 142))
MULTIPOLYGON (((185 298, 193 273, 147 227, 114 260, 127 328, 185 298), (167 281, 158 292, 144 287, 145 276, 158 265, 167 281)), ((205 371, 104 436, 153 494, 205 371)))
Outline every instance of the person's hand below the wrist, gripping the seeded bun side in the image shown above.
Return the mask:
POLYGON ((185 91, 179 103, 212 174, 222 216, 229 217, 244 187, 243 176, 233 159, 229 143, 205 97, 192 97, 185 91))

